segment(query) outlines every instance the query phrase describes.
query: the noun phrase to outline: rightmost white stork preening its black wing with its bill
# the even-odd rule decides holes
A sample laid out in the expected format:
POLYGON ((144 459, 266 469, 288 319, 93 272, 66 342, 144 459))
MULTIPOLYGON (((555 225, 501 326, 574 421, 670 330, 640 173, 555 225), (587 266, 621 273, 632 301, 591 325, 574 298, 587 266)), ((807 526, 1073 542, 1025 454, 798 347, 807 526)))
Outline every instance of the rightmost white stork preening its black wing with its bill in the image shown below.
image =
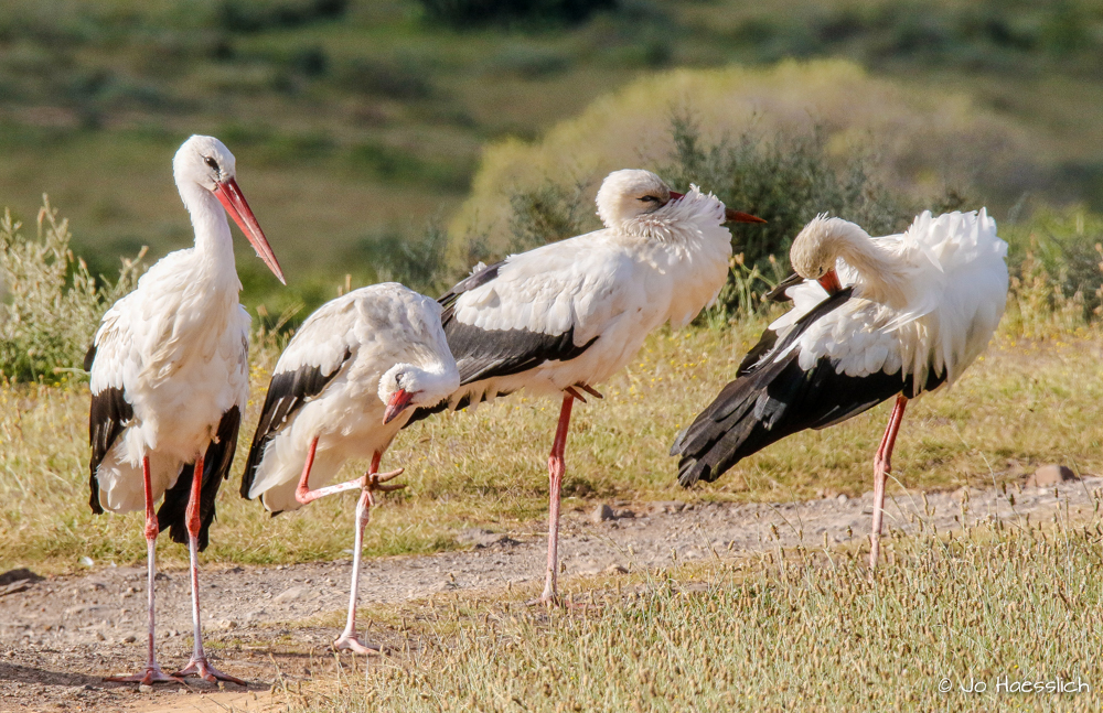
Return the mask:
POLYGON ((675 440, 678 482, 715 480, 791 433, 840 423, 896 396, 874 458, 869 565, 876 566, 904 407, 953 383, 985 349, 1007 301, 1006 256, 984 208, 924 212, 902 235, 881 238, 816 217, 793 241, 796 274, 774 291, 784 290, 793 309, 675 440))

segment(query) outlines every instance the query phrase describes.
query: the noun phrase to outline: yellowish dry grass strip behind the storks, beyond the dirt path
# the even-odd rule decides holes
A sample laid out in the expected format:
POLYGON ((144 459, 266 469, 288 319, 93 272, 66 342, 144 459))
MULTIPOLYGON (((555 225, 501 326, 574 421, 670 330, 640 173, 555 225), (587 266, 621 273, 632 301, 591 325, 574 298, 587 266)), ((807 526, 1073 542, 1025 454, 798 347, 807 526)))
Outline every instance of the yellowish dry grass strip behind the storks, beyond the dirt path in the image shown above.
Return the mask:
MULTIPOLYGON (((790 500, 818 490, 869 487, 870 458, 887 407, 840 426, 788 439, 714 485, 686 493, 666 453, 674 434, 719 390, 762 326, 652 335, 636 361, 604 385, 606 399, 577 408, 568 445, 566 507, 593 499, 790 500)), ((897 446, 908 487, 983 486, 1041 463, 1099 472, 1103 424, 1095 332, 1043 342, 997 338, 953 389, 909 409, 897 446)), ((258 350, 254 396, 242 432, 248 445, 272 364, 258 350)), ((140 515, 94 516, 87 506, 87 388, 0 388, 0 570, 68 571, 83 557, 144 558, 140 515)), ((473 413, 445 414, 404 432, 384 466, 401 465, 409 488, 373 514, 368 555, 437 551, 472 527, 525 527, 545 517, 544 462, 558 404, 524 396, 473 413)), ((278 563, 342 557, 352 541, 352 496, 269 518, 237 494, 244 455, 219 495, 206 560, 278 563)), ((358 467, 363 467, 361 464, 358 467)), ((349 466, 345 475, 353 477, 349 466)), ((164 555, 184 562, 183 548, 164 555)))

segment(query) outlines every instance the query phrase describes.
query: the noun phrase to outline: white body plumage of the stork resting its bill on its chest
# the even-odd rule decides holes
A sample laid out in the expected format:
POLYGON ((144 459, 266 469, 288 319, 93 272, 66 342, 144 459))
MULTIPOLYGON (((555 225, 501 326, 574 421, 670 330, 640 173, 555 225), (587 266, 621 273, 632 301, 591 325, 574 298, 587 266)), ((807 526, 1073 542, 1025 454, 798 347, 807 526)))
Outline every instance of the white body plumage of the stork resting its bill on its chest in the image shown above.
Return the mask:
POLYGON ((609 227, 510 256, 496 278, 459 295, 453 313, 488 341, 510 330, 572 331, 575 346, 596 339, 592 346, 574 358, 467 383, 450 398, 453 408, 522 388, 540 396, 600 383, 631 361, 653 330, 667 322, 685 326, 715 302, 731 257, 720 201, 695 186, 663 210, 631 220, 599 213, 609 227))

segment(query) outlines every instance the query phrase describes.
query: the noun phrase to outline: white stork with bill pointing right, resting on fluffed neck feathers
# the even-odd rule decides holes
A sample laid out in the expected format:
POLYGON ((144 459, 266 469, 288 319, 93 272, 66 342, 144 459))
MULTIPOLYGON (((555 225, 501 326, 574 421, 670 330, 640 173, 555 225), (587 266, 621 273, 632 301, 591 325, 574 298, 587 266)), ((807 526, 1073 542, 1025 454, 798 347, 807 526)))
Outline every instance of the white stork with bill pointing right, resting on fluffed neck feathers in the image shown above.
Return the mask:
POLYGON ((520 389, 563 395, 548 457, 544 603, 557 598, 559 490, 574 400, 585 402, 580 391, 600 397, 593 385, 631 361, 652 330, 682 327, 716 300, 731 257, 725 220, 764 223, 696 186, 671 191, 650 171, 610 173, 597 205, 604 229, 476 267, 440 299, 461 383, 447 407, 520 389))

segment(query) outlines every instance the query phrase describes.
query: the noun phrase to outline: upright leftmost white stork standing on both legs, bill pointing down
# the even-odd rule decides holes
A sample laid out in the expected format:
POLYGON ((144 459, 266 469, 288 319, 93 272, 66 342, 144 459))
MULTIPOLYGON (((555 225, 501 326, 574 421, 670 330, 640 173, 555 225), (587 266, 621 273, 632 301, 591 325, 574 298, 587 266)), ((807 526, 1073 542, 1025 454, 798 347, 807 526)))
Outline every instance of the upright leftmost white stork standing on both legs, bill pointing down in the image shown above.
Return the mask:
POLYGON ((92 509, 146 509, 149 657, 142 673, 108 680, 149 684, 195 674, 244 684, 203 653, 196 574, 249 388, 249 315, 237 301, 242 283, 223 207, 280 282, 283 273, 237 187, 234 154, 221 141, 190 138, 172 172, 195 247, 167 255, 107 311, 84 360, 92 372, 92 509), (165 527, 173 541, 188 542, 191 555, 194 652, 175 677, 161 671, 153 650, 154 551, 165 527))

